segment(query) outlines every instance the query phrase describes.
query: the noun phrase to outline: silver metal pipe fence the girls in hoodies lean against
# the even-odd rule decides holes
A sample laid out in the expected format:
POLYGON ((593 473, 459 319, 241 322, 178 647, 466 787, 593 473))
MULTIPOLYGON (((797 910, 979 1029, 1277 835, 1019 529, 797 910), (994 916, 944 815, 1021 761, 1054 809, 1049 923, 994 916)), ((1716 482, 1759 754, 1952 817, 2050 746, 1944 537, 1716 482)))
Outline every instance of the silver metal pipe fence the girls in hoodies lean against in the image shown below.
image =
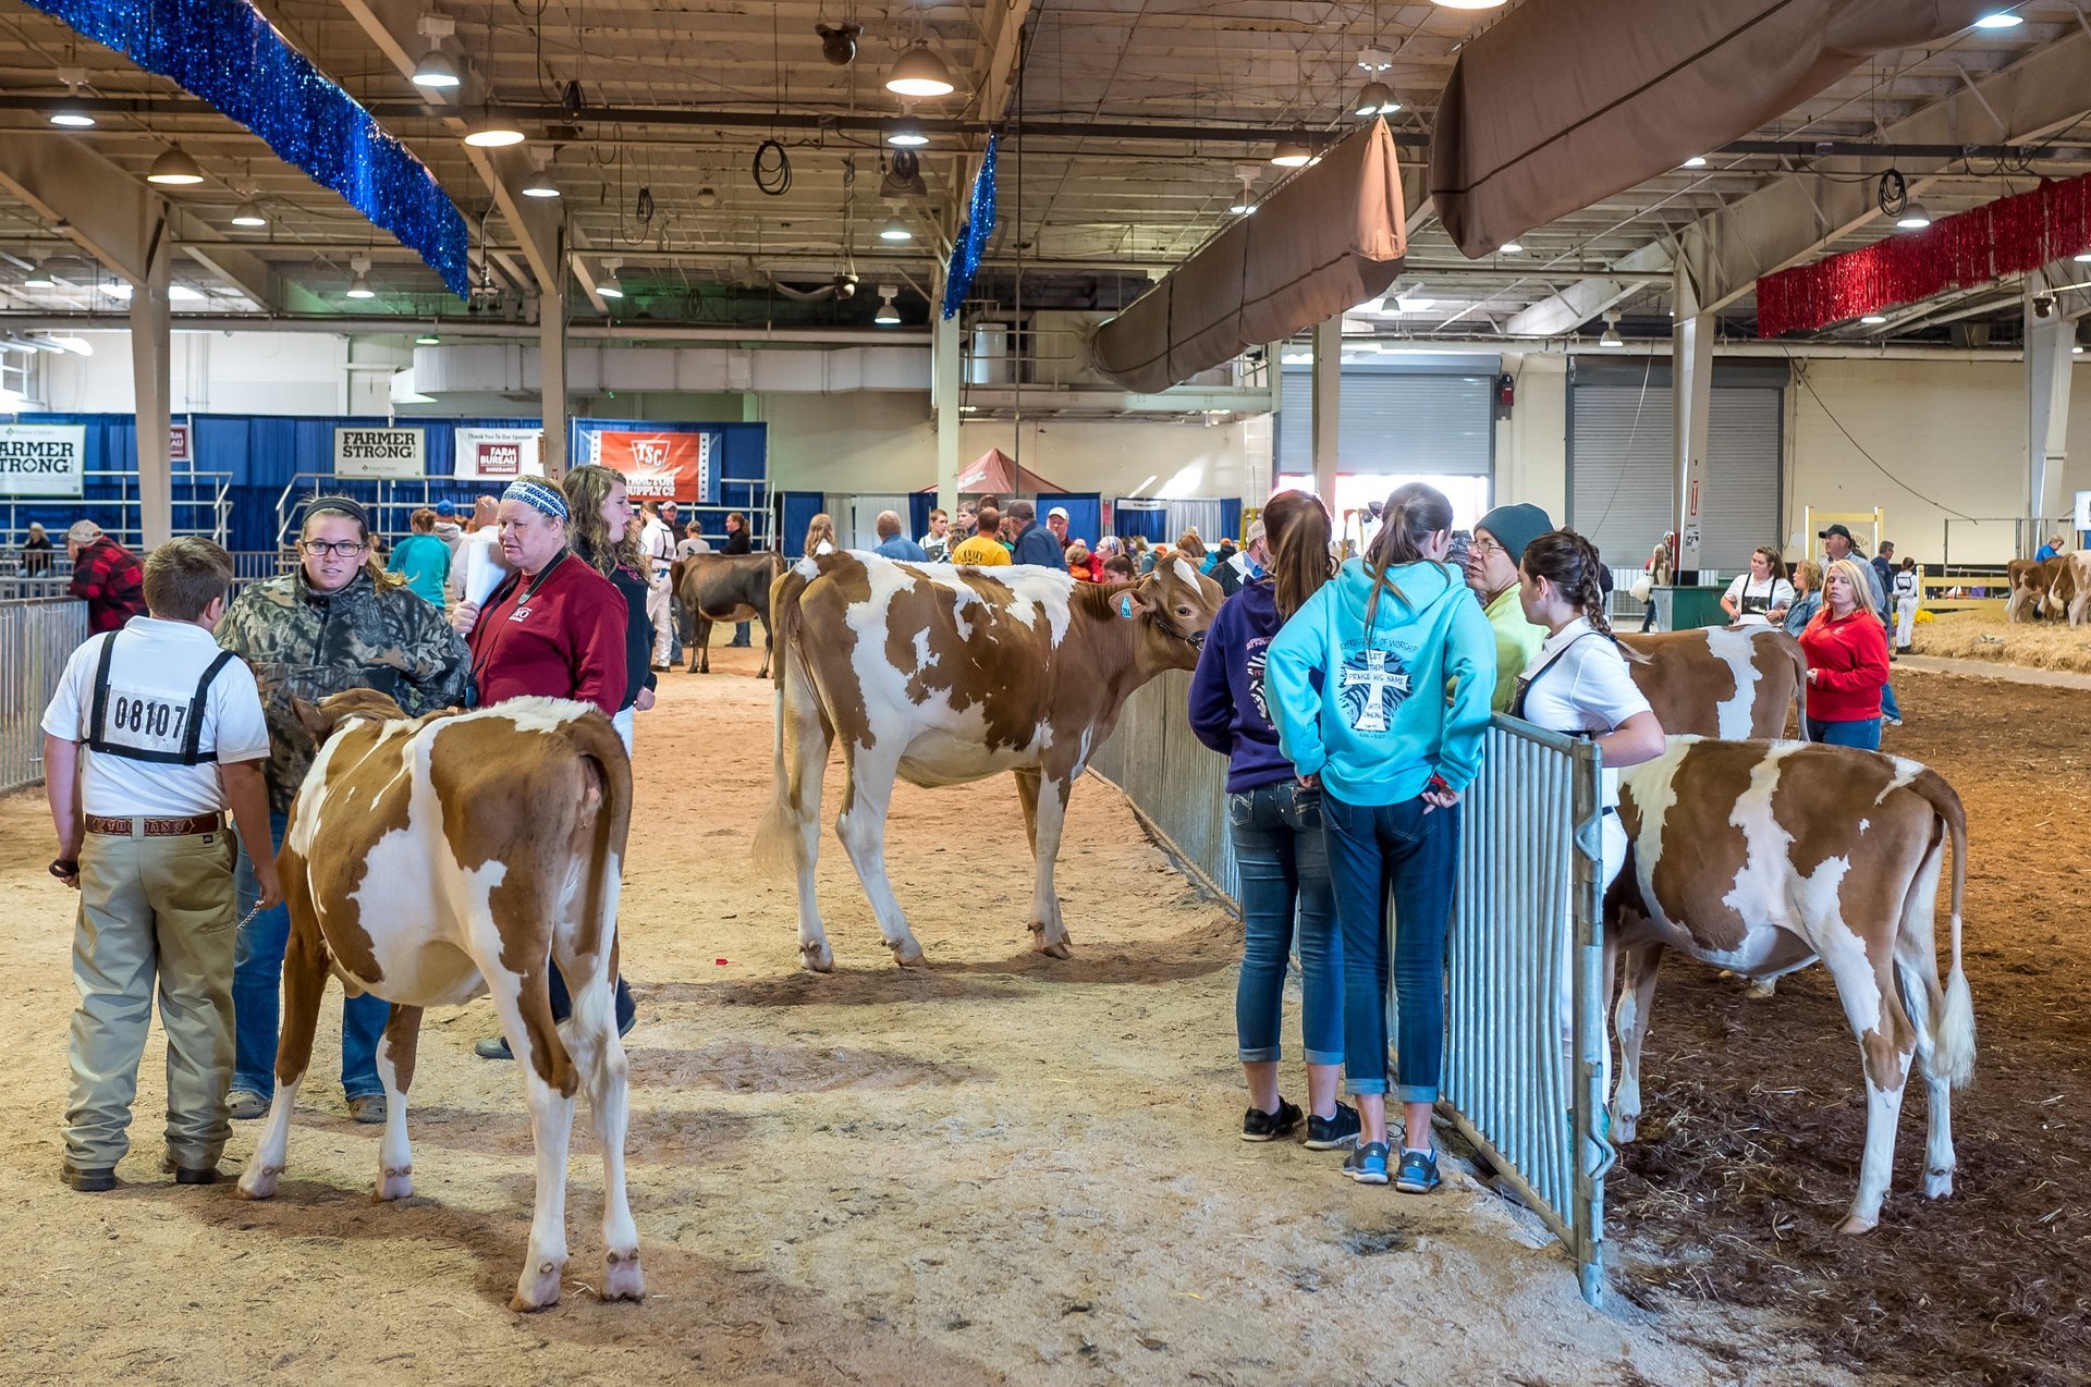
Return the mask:
MULTIPOLYGON (((1190 677, 1175 671, 1138 689, 1089 769, 1236 904, 1227 762, 1192 735, 1188 691, 1190 677)), ((1441 1099, 1568 1247, 1591 1303, 1604 1295, 1604 1176, 1614 1159, 1602 1132, 1600 769, 1585 739, 1501 714, 1489 727, 1462 810, 1441 1099)))

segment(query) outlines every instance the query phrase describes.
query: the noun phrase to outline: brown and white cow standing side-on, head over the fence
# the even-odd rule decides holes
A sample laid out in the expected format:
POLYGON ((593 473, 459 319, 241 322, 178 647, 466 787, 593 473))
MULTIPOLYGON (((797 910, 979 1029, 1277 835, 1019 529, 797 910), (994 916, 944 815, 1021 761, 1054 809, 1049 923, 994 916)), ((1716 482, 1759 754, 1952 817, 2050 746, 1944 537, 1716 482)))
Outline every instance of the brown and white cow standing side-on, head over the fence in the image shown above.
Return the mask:
POLYGON ((893 959, 918 963, 887 881, 893 781, 956 785, 1016 775, 1037 879, 1033 948, 1069 957, 1054 856, 1069 790, 1125 698, 1165 668, 1194 668, 1219 585, 1177 558, 1138 583, 1075 583, 1064 570, 901 564, 832 554, 792 564, 772 591, 778 620, 776 796, 757 859, 799 879, 799 953, 834 953, 813 898, 820 790, 843 744, 849 785, 834 831, 893 959))

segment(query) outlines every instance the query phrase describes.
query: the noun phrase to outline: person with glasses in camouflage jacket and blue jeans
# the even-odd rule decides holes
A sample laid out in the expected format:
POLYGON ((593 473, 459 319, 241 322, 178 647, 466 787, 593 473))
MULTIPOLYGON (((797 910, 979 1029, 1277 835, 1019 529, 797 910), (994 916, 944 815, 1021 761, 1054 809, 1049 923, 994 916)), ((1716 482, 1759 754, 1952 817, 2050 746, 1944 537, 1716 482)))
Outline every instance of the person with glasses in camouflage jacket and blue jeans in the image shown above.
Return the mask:
MULTIPOLYGON (((462 704, 468 658, 443 610, 408 591, 370 554, 370 518, 347 497, 305 506, 297 533, 299 566, 249 583, 217 622, 217 643, 253 666, 268 710, 270 852, 282 846, 291 800, 312 769, 312 735, 291 708, 345 689, 376 689, 410 716, 462 704)), ((259 833, 255 833, 259 840, 259 833)), ((261 859, 240 852, 238 909, 261 898, 261 859)), ((276 1024, 282 950, 291 913, 270 907, 240 925, 232 973, 234 1063, 230 1111, 253 1120, 276 1090, 276 1024)), ((355 1122, 385 1122, 385 1084, 376 1047, 389 1005, 364 994, 341 1007, 341 1090, 355 1122)))

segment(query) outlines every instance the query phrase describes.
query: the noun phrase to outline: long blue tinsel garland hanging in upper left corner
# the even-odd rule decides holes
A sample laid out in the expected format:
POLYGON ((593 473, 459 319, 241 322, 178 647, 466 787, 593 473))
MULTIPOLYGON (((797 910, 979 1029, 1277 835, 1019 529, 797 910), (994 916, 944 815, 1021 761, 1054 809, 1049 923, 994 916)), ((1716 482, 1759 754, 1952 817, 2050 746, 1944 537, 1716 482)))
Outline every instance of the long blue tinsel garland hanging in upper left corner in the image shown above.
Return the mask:
POLYGON ((249 0, 29 0, 261 136, 418 251, 460 299, 464 217, 435 173, 276 33, 249 0))

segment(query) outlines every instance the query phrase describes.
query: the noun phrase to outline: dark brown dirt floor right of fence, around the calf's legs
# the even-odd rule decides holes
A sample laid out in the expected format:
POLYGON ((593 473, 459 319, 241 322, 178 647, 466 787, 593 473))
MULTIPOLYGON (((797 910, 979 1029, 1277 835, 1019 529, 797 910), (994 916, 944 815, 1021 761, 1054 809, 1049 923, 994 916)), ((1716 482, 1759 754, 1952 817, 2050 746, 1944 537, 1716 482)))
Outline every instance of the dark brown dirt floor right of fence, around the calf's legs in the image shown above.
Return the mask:
MULTIPOLYGON (((1955 1193, 1915 1193, 1926 1101, 1903 1103, 1880 1228, 1834 1232, 1865 1134, 1859 1051, 1828 973, 1771 1001, 1671 961, 1641 1138, 1608 1182, 1635 1303, 1777 1310, 1890 1381, 2091 1381, 2091 696, 1903 671, 1886 750, 1936 767, 1970 821, 1974 1086, 1955 1193)), ((1945 892, 1945 884, 1940 884, 1945 892)), ((1940 909, 1940 948, 1945 948, 1940 909)))

